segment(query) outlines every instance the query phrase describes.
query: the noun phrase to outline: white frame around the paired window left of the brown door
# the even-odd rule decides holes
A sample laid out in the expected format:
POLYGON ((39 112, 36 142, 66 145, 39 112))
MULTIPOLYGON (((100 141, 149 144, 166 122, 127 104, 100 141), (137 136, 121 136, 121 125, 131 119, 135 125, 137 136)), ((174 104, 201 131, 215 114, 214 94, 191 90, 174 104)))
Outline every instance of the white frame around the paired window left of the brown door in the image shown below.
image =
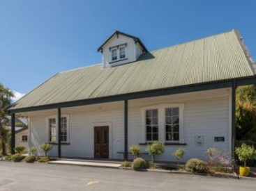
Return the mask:
MULTIPOLYGON (((61 117, 66 117, 67 118, 67 140, 66 141, 61 141, 61 143, 70 143, 70 129, 69 129, 69 115, 63 114, 61 117)), ((58 128, 58 116, 57 115, 52 115, 46 117, 46 129, 47 129, 47 141, 50 143, 57 143, 59 140, 59 128, 58 128), (55 119, 56 120, 56 141, 55 142, 50 142, 50 133, 49 133, 49 119, 55 119)))

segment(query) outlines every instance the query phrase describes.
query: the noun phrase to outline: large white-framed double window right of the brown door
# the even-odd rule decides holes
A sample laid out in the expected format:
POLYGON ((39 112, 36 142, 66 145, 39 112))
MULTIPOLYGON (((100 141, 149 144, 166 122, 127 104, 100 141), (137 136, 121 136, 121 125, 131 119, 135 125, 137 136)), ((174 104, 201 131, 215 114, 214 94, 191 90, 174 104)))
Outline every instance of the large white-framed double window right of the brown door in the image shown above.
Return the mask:
POLYGON ((142 142, 184 143, 183 103, 160 103, 141 108, 142 142))

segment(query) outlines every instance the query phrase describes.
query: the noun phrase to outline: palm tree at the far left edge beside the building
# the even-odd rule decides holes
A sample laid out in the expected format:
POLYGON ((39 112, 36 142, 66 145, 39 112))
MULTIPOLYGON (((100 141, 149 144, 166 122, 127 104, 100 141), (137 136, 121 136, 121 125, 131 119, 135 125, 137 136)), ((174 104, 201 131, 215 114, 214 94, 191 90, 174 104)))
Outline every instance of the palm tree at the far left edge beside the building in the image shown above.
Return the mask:
POLYGON ((9 130, 6 128, 8 118, 5 110, 10 106, 13 97, 13 92, 0 83, 0 142, 3 156, 6 155, 6 143, 8 143, 10 137, 9 130))

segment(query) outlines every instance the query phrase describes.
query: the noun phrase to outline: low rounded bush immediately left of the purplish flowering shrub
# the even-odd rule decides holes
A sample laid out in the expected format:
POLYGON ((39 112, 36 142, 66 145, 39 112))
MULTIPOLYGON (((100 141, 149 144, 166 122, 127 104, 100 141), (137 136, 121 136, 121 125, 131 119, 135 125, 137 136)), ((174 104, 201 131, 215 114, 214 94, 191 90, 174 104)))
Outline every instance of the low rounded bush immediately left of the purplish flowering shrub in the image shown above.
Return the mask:
POLYGON ((198 172, 198 173, 206 173, 208 172, 208 168, 204 161, 199 160, 197 158, 191 158, 187 161, 185 165, 185 169, 188 172, 198 172))

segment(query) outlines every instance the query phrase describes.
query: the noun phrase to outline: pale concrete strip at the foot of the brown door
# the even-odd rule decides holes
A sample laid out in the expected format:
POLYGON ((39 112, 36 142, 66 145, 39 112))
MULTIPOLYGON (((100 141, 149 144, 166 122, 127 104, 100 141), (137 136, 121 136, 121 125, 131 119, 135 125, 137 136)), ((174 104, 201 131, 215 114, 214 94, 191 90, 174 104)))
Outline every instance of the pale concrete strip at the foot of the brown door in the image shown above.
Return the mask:
POLYGON ((56 160, 50 161, 49 164, 55 165, 79 165, 88 167, 105 167, 105 168, 118 168, 119 163, 103 163, 103 162, 92 162, 92 161, 75 161, 75 160, 56 160))

